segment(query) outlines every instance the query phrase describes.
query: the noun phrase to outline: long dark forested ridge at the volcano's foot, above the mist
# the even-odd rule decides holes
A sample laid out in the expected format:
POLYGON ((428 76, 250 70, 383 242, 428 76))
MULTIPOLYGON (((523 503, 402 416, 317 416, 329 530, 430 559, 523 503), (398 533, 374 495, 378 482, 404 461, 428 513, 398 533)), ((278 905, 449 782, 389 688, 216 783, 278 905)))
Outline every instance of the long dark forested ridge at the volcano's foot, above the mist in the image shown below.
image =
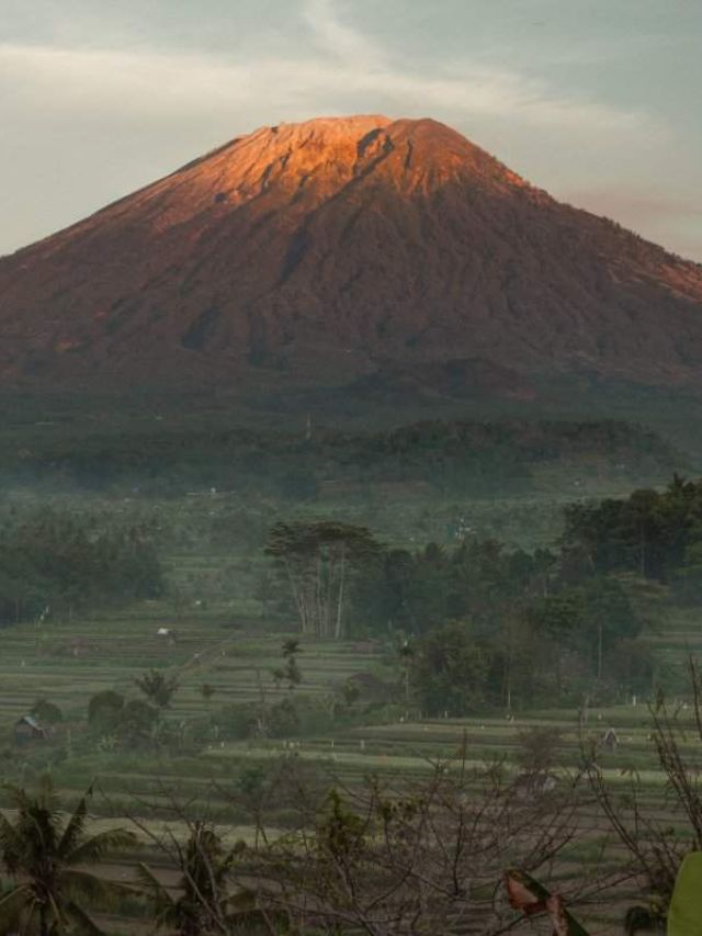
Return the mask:
POLYGON ((680 463, 657 436, 620 421, 428 421, 383 432, 301 426, 296 433, 156 427, 120 437, 47 435, 8 450, 0 471, 9 482, 143 494, 256 488, 299 500, 328 482, 389 482, 480 497, 526 492, 533 465, 584 456, 631 477, 663 476, 680 463))

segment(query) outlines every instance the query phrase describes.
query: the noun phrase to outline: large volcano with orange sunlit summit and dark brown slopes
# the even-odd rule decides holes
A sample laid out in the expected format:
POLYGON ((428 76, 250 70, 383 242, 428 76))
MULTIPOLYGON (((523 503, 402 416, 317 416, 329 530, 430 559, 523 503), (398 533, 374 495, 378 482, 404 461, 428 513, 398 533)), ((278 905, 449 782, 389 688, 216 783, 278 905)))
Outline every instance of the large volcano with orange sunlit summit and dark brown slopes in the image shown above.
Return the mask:
POLYGON ((0 330, 5 384, 331 386, 449 363, 699 384, 702 268, 435 121, 320 119, 1 259, 0 330))

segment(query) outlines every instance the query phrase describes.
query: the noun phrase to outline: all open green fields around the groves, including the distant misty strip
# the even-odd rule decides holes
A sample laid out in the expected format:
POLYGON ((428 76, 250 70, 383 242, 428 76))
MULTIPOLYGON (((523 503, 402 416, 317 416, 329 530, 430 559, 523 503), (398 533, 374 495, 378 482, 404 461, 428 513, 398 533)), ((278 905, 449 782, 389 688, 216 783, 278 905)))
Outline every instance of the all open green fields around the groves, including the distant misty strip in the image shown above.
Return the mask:
MULTIPOLYGON (((513 719, 502 710, 463 719, 418 718, 403 700, 401 667, 389 635, 369 640, 359 627, 358 636, 344 641, 305 638, 298 658, 302 683, 295 689, 282 685, 273 670, 280 666, 283 642, 297 633, 298 624, 294 614, 281 610, 281 585, 263 549, 268 531, 281 519, 333 517, 367 525, 384 544, 410 551, 431 541, 453 546, 458 521, 472 537, 534 550, 557 541, 565 505, 621 497, 630 489, 627 477, 611 464, 586 459, 542 464, 528 493, 499 498, 438 496, 415 483, 344 486, 333 477, 321 484, 316 497, 292 504, 236 489, 196 488, 162 497, 7 490, 0 506, 8 517, 48 506, 76 516, 84 511, 149 523, 167 589, 154 600, 92 610, 63 608, 43 621, 0 630, 2 779, 31 787, 48 773, 66 802, 94 781, 91 809, 102 823, 135 816, 154 834, 168 825, 177 836, 184 835, 173 809, 177 802, 191 816, 212 819, 226 841, 251 841, 251 816, 230 793, 258 768, 273 771, 281 763, 294 762, 308 769, 320 788, 359 789, 369 777, 422 782, 438 762, 465 751, 469 768, 479 773, 499 765, 516 778, 522 733, 546 725, 561 732, 553 771, 567 787, 582 759, 575 707, 521 710, 513 719), (162 628, 174 631, 176 639, 160 636, 162 628), (135 680, 151 669, 178 681, 172 703, 160 717, 167 740, 155 737, 150 746, 128 749, 91 731, 90 699, 106 690, 138 699, 135 680), (360 693, 340 707, 344 686, 354 678, 360 679, 360 693), (205 685, 210 697, 202 691, 205 685), (377 697, 376 685, 395 687, 393 698, 377 697), (48 740, 20 745, 14 725, 38 700, 58 706, 63 720, 48 740), (265 737, 237 736, 231 729, 235 710, 286 700, 304 700, 309 710, 299 731, 265 737)), ((684 699, 687 659, 702 653, 702 618, 693 606, 673 604, 663 586, 633 584, 632 593, 646 610, 647 624, 637 640, 654 651, 656 684, 670 697, 684 699)), ((608 708, 591 704, 585 735, 599 738, 608 728, 616 730, 616 751, 599 755, 608 781, 624 791, 634 771, 641 802, 676 835, 683 835, 684 823, 670 813, 665 777, 657 767, 646 695, 636 704, 632 699, 608 708)), ((698 757, 692 740, 683 751, 698 757)), ((267 824, 273 831, 284 831, 290 821, 286 804, 270 808, 267 824)), ((149 836, 140 835, 143 857, 160 875, 172 876, 149 836)), ((561 854, 555 880, 567 886, 597 869, 615 868, 621 859, 603 816, 584 804, 577 837, 561 854)), ((134 862, 134 855, 118 856, 103 871, 128 879, 134 862)), ((636 883, 627 882, 609 895, 607 906, 586 905, 580 916, 592 933, 619 932, 623 910, 637 898, 636 883)), ((111 933, 139 933, 141 913, 137 902, 103 923, 111 933)))

